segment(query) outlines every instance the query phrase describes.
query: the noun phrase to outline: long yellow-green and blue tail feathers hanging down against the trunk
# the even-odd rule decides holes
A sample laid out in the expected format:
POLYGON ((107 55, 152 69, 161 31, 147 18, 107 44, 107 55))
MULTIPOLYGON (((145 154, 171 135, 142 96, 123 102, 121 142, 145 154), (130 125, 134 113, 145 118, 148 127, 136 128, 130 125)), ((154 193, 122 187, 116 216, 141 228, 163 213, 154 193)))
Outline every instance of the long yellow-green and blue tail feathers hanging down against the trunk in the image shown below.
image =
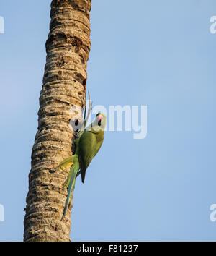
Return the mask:
POLYGON ((64 184, 64 189, 68 189, 68 197, 67 197, 66 206, 65 206, 65 209, 63 212, 63 218, 66 215, 66 211, 68 208, 68 202, 69 202, 70 198, 71 198, 71 200, 69 202, 69 205, 70 206, 72 205, 73 189, 75 187, 76 174, 78 173, 78 170, 79 170, 78 156, 73 155, 73 165, 71 166, 71 169, 68 174, 68 178, 66 180, 66 183, 64 184))

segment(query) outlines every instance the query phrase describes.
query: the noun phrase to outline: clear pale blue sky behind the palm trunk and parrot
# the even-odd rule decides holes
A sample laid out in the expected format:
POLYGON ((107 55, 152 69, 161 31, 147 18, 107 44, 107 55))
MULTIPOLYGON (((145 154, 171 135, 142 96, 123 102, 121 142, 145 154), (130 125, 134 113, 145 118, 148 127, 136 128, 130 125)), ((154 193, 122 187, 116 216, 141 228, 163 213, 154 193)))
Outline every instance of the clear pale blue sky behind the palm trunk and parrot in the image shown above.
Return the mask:
MULTIPOLYGON (((22 241, 49 13, 50 1, 0 3, 0 241, 22 241)), ((106 132, 76 183, 73 241, 216 240, 214 15, 213 0, 93 0, 91 98, 148 106, 148 134, 106 132)))

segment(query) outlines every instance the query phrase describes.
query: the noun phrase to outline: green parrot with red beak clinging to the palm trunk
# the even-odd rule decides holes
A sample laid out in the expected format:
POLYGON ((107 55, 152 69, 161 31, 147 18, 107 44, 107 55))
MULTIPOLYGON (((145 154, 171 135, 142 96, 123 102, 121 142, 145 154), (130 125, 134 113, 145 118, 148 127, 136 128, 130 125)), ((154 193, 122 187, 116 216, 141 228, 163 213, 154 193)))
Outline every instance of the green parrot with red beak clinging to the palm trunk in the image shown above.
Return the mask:
POLYGON ((66 215, 68 202, 69 207, 72 207, 72 192, 75 187, 76 177, 81 174, 81 180, 84 183, 86 176, 86 169, 88 168, 91 160, 102 146, 104 140, 104 129, 107 123, 107 116, 102 113, 96 114, 96 118, 93 123, 86 127, 79 134, 80 137, 74 140, 76 150, 75 154, 66 158, 56 168, 66 167, 71 165, 68 173, 68 178, 64 184, 64 189, 68 189, 68 197, 66 200, 66 206, 63 212, 63 217, 66 215))

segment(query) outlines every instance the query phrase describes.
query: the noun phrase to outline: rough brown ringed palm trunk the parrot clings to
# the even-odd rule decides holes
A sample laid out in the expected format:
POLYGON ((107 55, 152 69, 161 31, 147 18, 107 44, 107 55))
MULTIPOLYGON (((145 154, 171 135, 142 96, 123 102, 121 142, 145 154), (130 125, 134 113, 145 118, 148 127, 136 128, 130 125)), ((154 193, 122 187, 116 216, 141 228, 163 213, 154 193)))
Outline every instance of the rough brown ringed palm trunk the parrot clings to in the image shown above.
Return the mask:
POLYGON ((53 0, 47 60, 40 93, 38 130, 32 148, 24 241, 70 241, 71 210, 61 221, 68 171, 55 171, 72 154, 72 106, 85 99, 90 51, 91 0, 53 0))

